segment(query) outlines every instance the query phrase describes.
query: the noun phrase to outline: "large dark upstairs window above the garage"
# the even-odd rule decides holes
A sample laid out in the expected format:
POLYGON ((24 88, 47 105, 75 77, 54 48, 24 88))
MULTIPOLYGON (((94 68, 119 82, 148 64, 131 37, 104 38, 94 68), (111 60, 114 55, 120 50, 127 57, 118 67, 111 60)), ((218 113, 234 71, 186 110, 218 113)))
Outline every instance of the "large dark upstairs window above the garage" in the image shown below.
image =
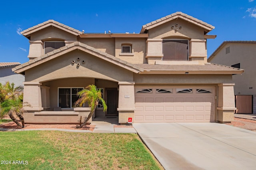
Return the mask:
POLYGON ((188 40, 163 39, 164 61, 188 61, 188 40))

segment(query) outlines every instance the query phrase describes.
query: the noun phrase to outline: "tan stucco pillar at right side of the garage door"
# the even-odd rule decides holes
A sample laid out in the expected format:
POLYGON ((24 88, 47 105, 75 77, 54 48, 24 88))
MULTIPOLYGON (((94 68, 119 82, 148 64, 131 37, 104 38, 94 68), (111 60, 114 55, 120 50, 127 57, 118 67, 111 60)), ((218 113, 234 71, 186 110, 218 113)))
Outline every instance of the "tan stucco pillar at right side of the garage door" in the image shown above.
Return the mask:
POLYGON ((218 107, 217 107, 217 121, 226 123, 234 121, 235 96, 234 83, 218 84, 218 107))

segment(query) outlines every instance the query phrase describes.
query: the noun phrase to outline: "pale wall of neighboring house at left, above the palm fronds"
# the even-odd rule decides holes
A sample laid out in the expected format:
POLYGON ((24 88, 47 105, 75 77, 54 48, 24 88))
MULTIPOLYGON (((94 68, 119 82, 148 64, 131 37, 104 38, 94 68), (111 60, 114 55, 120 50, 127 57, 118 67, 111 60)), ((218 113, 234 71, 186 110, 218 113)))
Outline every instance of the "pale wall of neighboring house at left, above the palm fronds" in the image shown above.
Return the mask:
POLYGON ((14 83, 15 86, 23 86, 25 76, 22 74, 16 74, 12 72, 12 68, 15 66, 0 67, 0 83, 5 84, 7 81, 14 83))

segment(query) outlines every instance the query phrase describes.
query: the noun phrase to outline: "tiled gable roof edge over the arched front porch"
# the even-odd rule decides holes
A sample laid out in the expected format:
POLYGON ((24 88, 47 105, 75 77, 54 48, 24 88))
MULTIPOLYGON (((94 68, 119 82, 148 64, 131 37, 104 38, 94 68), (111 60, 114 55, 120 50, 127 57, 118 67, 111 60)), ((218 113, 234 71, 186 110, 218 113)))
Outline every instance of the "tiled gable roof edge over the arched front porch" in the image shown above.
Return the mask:
POLYGON ((61 55, 64 55, 70 51, 73 50, 81 50, 84 51, 86 53, 89 53, 91 55, 94 55, 96 57, 99 57, 105 61, 108 61, 110 63, 116 64, 118 66, 121 66, 127 70, 130 70, 132 72, 138 73, 143 71, 142 68, 136 66, 135 64, 131 64, 128 63, 126 61, 123 61, 121 59, 118 59, 117 57, 114 57, 112 55, 109 55, 108 53, 104 53, 103 51, 100 51, 98 49, 95 49, 93 47, 90 47, 89 45, 86 45, 84 43, 80 43, 80 42, 74 42, 71 43, 69 45, 66 45, 64 47, 61 47, 59 49, 56 49, 54 51, 51 51, 45 55, 42 55, 41 57, 37 57, 33 60, 28 61, 27 63, 23 63, 19 66, 16 66, 15 68, 12 69, 12 71, 16 72, 16 73, 22 73, 32 67, 38 66, 39 64, 45 63, 51 59, 54 59, 56 57, 59 57, 61 55))

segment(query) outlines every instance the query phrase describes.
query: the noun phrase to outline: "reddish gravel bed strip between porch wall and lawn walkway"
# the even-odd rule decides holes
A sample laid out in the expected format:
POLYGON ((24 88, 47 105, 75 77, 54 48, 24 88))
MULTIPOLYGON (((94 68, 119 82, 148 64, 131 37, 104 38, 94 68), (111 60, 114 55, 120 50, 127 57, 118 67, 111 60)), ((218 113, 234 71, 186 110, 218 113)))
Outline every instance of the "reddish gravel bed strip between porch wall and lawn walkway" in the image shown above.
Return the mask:
POLYGON ((74 124, 25 124, 24 128, 18 127, 16 123, 9 122, 0 125, 0 128, 5 129, 45 129, 45 128, 55 128, 55 129, 72 129, 72 130, 90 130, 94 131, 95 125, 85 125, 84 127, 78 129, 74 124))

